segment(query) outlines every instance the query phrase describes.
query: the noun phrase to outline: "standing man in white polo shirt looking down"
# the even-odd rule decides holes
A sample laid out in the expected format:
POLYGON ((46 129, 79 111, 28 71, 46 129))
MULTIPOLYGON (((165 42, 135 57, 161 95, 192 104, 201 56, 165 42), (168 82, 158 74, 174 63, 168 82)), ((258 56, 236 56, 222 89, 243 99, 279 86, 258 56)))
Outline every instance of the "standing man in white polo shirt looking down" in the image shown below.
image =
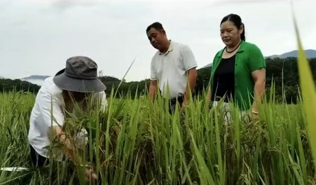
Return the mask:
POLYGON ((162 96, 166 97, 168 86, 171 103, 169 111, 175 108, 176 100, 183 109, 196 83, 197 63, 194 54, 188 45, 169 40, 160 22, 148 26, 146 33, 151 45, 158 50, 151 60, 149 94, 154 99, 158 84, 162 96))

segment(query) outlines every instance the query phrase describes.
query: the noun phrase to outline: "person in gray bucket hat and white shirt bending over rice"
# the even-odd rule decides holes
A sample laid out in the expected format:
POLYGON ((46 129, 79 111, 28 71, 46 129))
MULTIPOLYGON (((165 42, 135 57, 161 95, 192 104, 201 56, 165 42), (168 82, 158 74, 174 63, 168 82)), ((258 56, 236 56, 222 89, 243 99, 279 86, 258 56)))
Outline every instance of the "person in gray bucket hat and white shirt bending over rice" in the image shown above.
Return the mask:
MULTIPOLYGON (((73 112, 74 106, 79 104, 84 109, 88 106, 87 99, 90 95, 100 101, 99 107, 104 110, 107 106, 104 90, 106 86, 97 78, 97 64, 84 56, 67 59, 66 68, 55 77, 45 79, 36 96, 30 118, 28 139, 34 166, 46 166, 50 156, 58 155, 58 149, 53 148, 53 154, 48 151, 52 143, 51 138, 62 145, 63 158, 67 156, 77 165, 78 161, 73 158, 75 146, 63 131, 65 118, 69 116, 67 112, 73 112)), ((83 129, 81 134, 87 134, 87 131, 83 129)), ((87 139, 86 136, 84 138, 87 139)), ((96 178, 96 175, 87 167, 86 177, 96 178)))

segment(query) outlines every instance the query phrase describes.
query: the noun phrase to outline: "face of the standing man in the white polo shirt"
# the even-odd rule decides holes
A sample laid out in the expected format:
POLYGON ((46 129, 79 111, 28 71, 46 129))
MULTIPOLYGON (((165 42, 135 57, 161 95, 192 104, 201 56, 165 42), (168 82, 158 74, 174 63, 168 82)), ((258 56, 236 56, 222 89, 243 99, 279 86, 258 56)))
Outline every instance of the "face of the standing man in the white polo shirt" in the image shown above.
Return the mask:
POLYGON ((166 42, 166 32, 165 30, 157 31, 151 28, 147 33, 148 39, 153 48, 160 50, 165 46, 166 42))

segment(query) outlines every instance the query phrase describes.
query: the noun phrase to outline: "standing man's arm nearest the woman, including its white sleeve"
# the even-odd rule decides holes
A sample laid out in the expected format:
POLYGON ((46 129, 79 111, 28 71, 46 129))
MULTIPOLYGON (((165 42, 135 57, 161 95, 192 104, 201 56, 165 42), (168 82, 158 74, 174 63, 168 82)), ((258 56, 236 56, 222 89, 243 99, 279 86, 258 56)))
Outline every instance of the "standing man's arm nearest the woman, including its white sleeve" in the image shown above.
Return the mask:
POLYGON ((183 66, 188 74, 187 89, 185 91, 185 103, 187 103, 190 100, 190 94, 194 91, 197 78, 197 63, 194 54, 188 45, 183 46, 181 50, 181 57, 183 66))

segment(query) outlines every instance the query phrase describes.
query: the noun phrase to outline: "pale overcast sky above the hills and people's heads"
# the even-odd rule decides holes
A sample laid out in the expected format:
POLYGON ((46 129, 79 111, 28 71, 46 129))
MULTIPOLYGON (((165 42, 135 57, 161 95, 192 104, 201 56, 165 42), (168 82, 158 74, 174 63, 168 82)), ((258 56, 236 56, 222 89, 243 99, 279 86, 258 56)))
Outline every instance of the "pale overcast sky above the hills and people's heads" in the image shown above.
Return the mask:
MULTIPOLYGON (((304 49, 316 49, 316 1, 294 2, 304 49)), ((198 67, 224 47, 220 21, 239 14, 246 41, 265 56, 297 49, 288 1, 4 1, 0 0, 0 76, 55 75, 67 58, 85 55, 103 75, 150 76, 156 50, 145 30, 160 21, 169 39, 188 44, 198 67)))

